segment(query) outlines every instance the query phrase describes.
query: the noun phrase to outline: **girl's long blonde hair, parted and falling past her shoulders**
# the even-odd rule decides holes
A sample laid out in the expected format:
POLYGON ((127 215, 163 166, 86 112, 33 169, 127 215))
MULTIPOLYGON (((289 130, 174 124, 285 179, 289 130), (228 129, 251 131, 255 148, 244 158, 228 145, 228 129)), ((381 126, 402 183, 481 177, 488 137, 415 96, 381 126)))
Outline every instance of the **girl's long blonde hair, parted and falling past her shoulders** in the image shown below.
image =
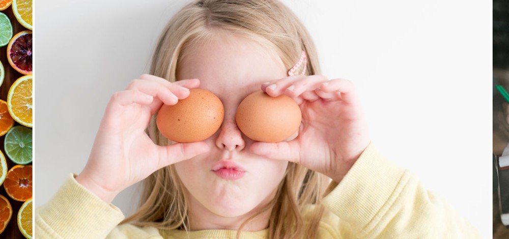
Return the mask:
MULTIPOLYGON (((186 5, 164 29, 155 48, 150 73, 176 81, 178 65, 186 49, 199 40, 207 39, 216 30, 259 42, 277 55, 287 69, 292 68, 304 51, 308 58, 306 74, 320 74, 317 52, 304 25, 290 9, 276 0, 200 0, 186 5)), ((158 132, 154 120, 147 133, 156 144, 169 143, 158 132)), ((269 237, 314 238, 323 214, 319 200, 328 182, 329 179, 322 174, 289 163, 276 196, 265 208, 272 210, 269 237), (304 219, 302 212, 310 205, 315 208, 314 213, 304 219)), ((163 230, 187 230, 189 223, 184 191, 173 165, 154 172, 144 181, 138 211, 124 223, 163 230)))

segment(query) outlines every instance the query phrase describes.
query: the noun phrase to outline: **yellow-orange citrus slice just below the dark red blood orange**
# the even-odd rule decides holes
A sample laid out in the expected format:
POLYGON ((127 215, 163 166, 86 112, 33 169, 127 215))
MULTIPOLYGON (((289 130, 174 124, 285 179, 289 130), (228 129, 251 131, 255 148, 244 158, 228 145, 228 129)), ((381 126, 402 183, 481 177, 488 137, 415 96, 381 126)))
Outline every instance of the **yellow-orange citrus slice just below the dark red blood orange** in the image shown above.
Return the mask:
POLYGON ((16 122, 32 127, 32 105, 32 75, 21 76, 9 88, 7 109, 16 122))

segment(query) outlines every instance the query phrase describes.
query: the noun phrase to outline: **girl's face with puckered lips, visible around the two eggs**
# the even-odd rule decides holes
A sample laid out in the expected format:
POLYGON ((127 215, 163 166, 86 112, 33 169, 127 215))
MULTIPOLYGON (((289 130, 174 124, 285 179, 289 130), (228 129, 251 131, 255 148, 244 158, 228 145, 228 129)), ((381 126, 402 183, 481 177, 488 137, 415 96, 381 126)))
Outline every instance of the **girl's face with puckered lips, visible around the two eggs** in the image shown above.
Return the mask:
POLYGON ((287 69, 261 45, 224 32, 187 49, 178 68, 178 79, 200 79, 200 88, 217 95, 224 105, 221 128, 205 140, 211 151, 175 164, 188 190, 191 220, 250 216, 274 197, 288 162, 249 153, 253 141, 237 128, 235 113, 244 97, 260 91, 266 81, 286 77, 287 69), (221 162, 245 172, 221 176, 214 171, 224 166, 221 162))

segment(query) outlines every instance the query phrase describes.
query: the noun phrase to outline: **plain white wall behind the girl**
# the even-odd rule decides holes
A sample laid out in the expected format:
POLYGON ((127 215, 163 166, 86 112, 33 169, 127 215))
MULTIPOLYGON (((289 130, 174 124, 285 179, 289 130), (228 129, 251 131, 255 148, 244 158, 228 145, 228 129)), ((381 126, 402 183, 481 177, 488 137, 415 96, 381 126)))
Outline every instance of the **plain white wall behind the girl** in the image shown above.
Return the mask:
MULTIPOLYGON (((184 2, 36 1, 36 206, 84 167, 110 95, 148 72, 184 2)), ((312 34, 323 74, 356 85, 378 148, 491 237, 492 3, 284 2, 312 34)), ((130 215, 135 195, 114 204, 130 215)))

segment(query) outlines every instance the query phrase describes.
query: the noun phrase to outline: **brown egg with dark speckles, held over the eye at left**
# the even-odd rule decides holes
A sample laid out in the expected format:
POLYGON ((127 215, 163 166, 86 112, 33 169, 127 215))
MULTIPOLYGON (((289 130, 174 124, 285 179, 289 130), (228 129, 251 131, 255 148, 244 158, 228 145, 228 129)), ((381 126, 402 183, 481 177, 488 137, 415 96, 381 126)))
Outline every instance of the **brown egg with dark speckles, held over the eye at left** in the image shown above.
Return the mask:
POLYGON ((157 114, 157 128, 164 137, 180 143, 197 142, 212 136, 221 126, 224 107, 206 89, 191 89, 175 105, 163 105, 157 114))

